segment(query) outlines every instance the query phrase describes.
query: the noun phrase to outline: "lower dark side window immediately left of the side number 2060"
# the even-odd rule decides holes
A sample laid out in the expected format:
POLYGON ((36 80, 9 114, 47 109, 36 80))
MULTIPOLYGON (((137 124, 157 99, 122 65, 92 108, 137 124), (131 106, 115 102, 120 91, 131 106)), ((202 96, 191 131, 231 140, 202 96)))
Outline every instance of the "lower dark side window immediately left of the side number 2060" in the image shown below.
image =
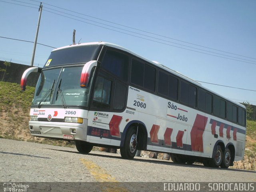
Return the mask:
POLYGON ((126 104, 126 86, 116 81, 113 109, 122 110, 126 104))

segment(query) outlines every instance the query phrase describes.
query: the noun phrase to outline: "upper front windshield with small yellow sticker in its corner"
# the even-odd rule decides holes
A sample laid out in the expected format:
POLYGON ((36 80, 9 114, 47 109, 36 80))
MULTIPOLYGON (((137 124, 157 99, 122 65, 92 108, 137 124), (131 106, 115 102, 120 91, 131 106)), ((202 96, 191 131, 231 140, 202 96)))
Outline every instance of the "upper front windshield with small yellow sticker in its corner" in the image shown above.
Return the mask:
POLYGON ((45 67, 59 66, 64 64, 86 63, 97 60, 100 54, 101 45, 74 46, 52 51, 45 67))

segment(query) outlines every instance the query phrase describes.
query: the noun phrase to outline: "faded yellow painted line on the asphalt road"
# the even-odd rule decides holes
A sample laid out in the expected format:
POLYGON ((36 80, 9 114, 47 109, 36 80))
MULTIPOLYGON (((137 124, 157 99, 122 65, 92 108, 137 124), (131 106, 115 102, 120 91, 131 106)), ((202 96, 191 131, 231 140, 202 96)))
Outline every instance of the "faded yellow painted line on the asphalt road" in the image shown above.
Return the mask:
POLYGON ((99 184, 102 188, 102 192, 129 192, 129 190, 120 186, 116 178, 108 174, 106 169, 98 166, 96 163, 88 159, 80 158, 80 161, 89 170, 90 174, 92 174, 97 182, 108 182, 99 184))

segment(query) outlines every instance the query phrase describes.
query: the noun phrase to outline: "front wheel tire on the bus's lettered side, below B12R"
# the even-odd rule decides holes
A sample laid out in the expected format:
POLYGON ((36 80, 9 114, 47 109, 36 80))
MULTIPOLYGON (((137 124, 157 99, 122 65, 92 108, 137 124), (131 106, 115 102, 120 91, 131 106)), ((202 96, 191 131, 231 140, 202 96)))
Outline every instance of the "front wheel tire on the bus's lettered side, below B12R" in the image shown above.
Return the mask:
POLYGON ((122 158, 132 159, 137 152, 137 130, 134 127, 128 129, 125 139, 124 146, 120 148, 122 158))

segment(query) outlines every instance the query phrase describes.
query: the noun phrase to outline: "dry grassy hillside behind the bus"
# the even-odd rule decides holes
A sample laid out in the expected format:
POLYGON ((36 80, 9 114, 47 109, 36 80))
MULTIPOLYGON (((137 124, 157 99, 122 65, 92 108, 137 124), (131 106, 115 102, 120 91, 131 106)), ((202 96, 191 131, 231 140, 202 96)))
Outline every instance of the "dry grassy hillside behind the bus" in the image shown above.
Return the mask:
MULTIPOLYGON (((74 147, 74 144, 70 142, 49 140, 30 135, 28 121, 33 94, 33 87, 27 86, 26 91, 22 92, 18 84, 0 82, 0 138, 74 147)), ((247 121, 244 160, 234 162, 234 168, 256 170, 255 121, 247 121)))

